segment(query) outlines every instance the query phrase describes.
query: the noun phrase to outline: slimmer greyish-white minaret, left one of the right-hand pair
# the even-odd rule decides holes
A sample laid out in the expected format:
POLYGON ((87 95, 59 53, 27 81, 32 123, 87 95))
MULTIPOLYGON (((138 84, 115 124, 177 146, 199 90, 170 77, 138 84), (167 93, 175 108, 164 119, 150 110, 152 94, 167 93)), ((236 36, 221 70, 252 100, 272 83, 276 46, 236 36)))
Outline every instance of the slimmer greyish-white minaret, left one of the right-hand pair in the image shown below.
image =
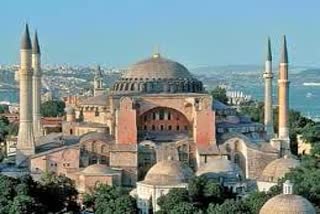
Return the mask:
POLYGON ((265 62, 264 78, 264 126, 268 139, 273 137, 273 110, 272 110, 272 53, 271 42, 268 38, 267 59, 265 62))

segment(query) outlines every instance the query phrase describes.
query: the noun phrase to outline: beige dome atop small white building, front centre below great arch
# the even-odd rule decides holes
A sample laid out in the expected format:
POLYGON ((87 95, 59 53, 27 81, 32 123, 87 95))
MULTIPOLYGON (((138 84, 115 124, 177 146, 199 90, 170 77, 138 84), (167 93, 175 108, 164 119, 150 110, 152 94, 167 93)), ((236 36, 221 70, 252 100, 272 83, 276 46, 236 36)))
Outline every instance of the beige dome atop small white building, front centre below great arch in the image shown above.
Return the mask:
POLYGON ((143 182, 152 185, 172 185, 187 183, 192 176, 192 170, 180 161, 165 160, 152 166, 143 182))

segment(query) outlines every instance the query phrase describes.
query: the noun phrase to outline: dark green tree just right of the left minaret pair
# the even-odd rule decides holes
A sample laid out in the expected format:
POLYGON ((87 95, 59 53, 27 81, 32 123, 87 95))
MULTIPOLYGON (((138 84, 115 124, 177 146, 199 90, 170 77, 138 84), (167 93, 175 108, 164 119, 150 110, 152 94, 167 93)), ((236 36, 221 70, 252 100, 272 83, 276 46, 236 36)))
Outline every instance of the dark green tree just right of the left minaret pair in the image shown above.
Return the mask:
POLYGON ((64 115, 65 103, 60 100, 47 101, 41 104, 41 115, 44 117, 61 117, 64 115))

